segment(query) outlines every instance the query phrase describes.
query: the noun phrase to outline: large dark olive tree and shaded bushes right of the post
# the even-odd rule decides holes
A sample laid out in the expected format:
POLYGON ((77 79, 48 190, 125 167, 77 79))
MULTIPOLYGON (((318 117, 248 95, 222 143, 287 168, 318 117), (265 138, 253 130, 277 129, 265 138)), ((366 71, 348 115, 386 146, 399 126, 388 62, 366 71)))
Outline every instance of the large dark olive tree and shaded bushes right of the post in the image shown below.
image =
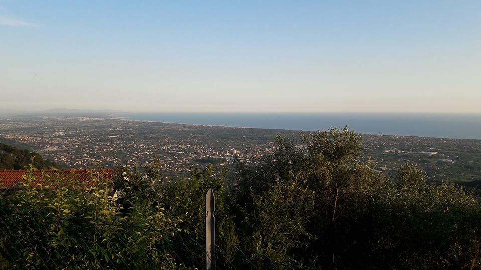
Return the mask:
POLYGON ((347 128, 301 138, 301 148, 279 138, 273 154, 238 165, 231 208, 256 267, 479 267, 479 198, 428 185, 413 165, 386 178, 347 128))

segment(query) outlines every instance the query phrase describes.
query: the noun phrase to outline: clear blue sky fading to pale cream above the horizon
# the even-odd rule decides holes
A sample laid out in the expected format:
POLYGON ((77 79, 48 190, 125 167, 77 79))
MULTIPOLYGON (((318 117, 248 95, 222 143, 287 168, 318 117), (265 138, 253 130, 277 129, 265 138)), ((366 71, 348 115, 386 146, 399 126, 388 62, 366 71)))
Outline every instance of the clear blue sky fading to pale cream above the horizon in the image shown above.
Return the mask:
POLYGON ((0 111, 481 113, 481 1, 0 0, 0 111))

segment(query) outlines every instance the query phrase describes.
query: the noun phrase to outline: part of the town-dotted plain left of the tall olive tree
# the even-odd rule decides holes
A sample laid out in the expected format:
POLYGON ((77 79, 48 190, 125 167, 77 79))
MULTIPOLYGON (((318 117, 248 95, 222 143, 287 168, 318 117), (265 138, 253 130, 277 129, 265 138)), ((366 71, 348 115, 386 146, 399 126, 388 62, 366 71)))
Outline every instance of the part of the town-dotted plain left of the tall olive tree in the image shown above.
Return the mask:
MULTIPOLYGON (((69 168, 144 165, 161 160, 173 174, 191 164, 228 166, 268 152, 275 131, 90 117, 10 117, 0 134, 69 168), (256 132, 258 131, 258 132, 256 132)), ((292 132, 287 132, 292 133, 292 132)))

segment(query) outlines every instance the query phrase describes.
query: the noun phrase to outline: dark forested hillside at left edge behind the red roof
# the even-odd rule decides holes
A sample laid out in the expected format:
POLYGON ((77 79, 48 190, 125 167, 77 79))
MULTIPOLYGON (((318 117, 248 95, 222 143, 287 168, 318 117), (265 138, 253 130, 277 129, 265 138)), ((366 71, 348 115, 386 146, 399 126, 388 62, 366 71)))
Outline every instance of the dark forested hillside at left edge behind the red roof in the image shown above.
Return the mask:
POLYGON ((33 166, 37 169, 59 167, 54 162, 43 159, 38 153, 0 143, 0 169, 22 169, 30 165, 34 156, 33 166))

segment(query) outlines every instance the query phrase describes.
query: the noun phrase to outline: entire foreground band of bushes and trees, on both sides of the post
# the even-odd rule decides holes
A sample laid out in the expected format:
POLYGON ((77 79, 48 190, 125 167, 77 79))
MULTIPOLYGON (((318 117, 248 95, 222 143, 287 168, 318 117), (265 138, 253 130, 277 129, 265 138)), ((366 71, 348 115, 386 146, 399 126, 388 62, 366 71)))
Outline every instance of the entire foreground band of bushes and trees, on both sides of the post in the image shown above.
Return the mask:
POLYGON ((46 187, 27 173, 0 200, 0 268, 202 268, 209 188, 220 269, 481 268, 477 196, 411 164, 376 172, 347 128, 301 137, 232 174, 209 165, 168 181, 156 163, 46 187))

